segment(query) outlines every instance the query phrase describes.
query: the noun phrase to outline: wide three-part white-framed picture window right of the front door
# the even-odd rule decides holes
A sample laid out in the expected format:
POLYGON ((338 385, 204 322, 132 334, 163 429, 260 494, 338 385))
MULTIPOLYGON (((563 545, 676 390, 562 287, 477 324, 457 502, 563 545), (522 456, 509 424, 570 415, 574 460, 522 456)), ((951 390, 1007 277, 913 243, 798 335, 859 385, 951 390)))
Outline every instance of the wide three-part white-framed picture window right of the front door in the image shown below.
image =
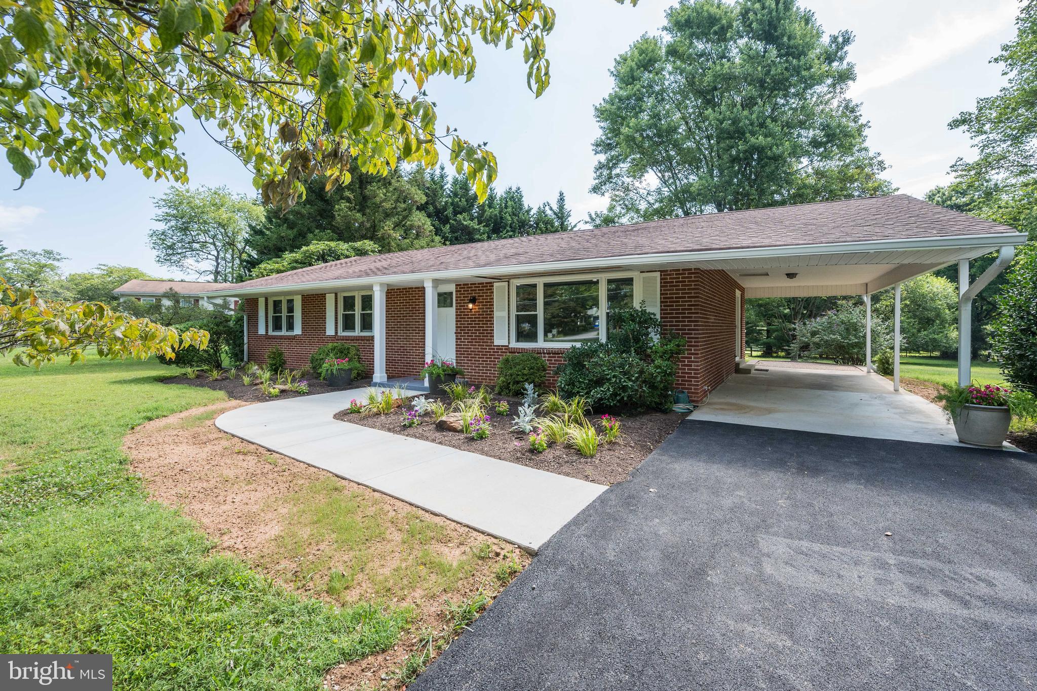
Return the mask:
POLYGON ((568 346, 605 341, 609 316, 634 308, 634 277, 579 276, 512 283, 511 341, 568 346))

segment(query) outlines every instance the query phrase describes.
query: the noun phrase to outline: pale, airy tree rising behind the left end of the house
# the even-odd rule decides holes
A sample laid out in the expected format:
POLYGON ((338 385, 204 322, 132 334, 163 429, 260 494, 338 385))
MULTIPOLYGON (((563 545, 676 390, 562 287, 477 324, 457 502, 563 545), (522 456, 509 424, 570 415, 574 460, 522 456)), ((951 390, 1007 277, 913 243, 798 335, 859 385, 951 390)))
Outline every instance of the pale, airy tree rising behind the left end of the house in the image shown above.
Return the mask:
POLYGON ((227 188, 170 188, 155 201, 162 225, 147 237, 155 261, 217 283, 244 277, 249 226, 262 221, 262 207, 227 188))

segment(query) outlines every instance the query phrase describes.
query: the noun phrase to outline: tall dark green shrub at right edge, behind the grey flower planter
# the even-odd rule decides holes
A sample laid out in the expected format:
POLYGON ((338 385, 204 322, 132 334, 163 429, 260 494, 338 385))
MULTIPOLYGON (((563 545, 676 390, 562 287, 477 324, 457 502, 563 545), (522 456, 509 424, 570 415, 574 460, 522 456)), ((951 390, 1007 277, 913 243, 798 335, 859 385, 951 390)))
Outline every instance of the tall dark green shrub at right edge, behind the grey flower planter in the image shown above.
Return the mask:
POLYGON ((990 346, 1005 378, 1019 388, 1037 392, 1037 248, 1019 255, 997 297, 998 316, 990 325, 990 346))

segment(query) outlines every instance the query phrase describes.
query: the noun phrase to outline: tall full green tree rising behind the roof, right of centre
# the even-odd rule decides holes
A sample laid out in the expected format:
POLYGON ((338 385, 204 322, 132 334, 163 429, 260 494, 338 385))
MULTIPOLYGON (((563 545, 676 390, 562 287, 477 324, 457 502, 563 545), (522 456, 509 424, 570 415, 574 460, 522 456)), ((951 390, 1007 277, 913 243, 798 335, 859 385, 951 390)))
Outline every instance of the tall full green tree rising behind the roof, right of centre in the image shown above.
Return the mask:
POLYGON ((794 0, 681 0, 620 55, 594 110, 594 225, 884 195, 846 96, 847 31, 794 0))

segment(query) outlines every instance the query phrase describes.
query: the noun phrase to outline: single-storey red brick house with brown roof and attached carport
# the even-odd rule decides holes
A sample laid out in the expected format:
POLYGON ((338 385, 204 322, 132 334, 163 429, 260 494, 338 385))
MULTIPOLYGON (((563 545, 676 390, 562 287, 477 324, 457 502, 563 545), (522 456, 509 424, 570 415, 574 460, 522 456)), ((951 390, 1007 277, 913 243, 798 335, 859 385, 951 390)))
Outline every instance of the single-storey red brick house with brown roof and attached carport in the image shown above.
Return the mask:
POLYGON ((608 338, 610 312, 643 305, 688 339, 677 386, 701 401, 745 354, 746 298, 870 301, 951 262, 968 284, 970 259, 1000 250, 1003 268, 1025 240, 895 195, 355 257, 206 295, 243 300, 249 359, 279 346, 304 367, 318 346, 343 341, 360 347, 375 382, 414 376, 432 355, 454 358, 476 383, 492 383, 512 352, 535 352, 553 370, 571 345, 608 338))

